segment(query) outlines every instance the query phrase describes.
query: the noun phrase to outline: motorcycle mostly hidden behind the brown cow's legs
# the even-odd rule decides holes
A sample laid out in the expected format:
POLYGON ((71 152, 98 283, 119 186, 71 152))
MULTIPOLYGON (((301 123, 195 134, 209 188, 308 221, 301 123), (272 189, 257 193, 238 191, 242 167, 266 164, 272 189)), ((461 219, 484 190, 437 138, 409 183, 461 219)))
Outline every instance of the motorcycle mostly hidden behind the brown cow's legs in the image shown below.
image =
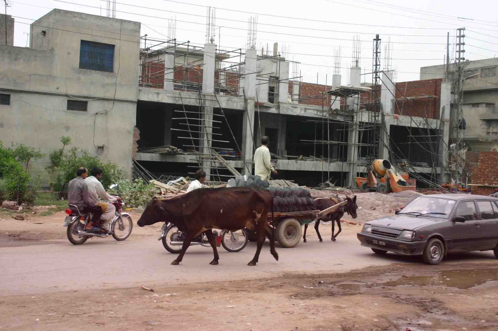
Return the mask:
MULTIPOLYGON (((157 240, 162 240, 162 245, 164 248, 173 254, 178 254, 182 251, 183 240, 187 237, 185 232, 178 229, 173 223, 164 223, 161 228, 161 236, 157 240)), ((246 229, 241 229, 237 231, 222 230, 220 234, 218 231, 213 230, 215 235, 216 246, 223 246, 229 252, 240 252, 248 244, 248 232, 246 229)), ((190 242, 190 246, 201 245, 204 247, 210 247, 209 240, 205 233, 195 237, 190 242)))

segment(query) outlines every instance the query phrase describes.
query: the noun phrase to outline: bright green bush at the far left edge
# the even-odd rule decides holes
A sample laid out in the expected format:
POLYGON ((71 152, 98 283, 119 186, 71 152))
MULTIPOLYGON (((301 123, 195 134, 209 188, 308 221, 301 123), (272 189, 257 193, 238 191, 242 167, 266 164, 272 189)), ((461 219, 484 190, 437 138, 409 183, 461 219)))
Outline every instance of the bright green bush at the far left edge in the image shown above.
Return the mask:
POLYGON ((19 203, 32 202, 33 196, 28 192, 30 176, 22 164, 15 160, 13 151, 3 148, 0 142, 0 198, 16 200, 19 203))

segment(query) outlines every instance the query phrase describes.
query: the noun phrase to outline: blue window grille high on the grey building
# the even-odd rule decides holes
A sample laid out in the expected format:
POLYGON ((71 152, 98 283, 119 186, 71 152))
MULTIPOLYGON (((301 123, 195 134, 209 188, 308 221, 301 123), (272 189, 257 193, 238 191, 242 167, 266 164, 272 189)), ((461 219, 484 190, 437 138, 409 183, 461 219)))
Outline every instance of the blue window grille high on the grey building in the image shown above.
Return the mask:
POLYGON ((81 40, 80 69, 113 72, 114 45, 81 40))

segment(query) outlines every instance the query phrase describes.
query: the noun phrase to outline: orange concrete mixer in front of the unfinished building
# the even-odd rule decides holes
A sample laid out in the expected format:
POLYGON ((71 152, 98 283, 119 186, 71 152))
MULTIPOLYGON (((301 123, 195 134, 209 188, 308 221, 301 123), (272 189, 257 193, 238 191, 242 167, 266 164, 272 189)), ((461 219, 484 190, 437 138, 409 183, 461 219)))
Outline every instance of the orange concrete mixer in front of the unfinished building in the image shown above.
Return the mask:
POLYGON ((408 178, 407 172, 398 172, 387 160, 374 160, 367 167, 367 177, 356 177, 356 183, 362 192, 379 193, 415 190, 415 179, 408 178))

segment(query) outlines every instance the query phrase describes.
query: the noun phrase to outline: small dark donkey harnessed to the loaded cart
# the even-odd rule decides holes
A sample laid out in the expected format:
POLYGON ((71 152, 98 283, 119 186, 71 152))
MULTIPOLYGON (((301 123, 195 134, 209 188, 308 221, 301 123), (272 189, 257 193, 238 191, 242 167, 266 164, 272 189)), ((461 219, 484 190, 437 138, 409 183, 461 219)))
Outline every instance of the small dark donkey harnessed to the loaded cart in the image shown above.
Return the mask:
MULTIPOLYGON (((334 210, 330 214, 327 214, 325 216, 320 217, 315 221, 315 230, 316 234, 318 235, 318 239, 320 239, 320 242, 323 242, 322 236, 320 235, 320 231, 318 231, 318 226, 320 225, 320 221, 328 222, 332 221, 332 236, 331 240, 336 241, 336 237, 341 233, 341 217, 344 216, 344 213, 347 212, 348 214, 351 215, 351 217, 356 218, 358 215, 356 213, 356 210, 358 209, 358 205, 356 204, 356 195, 353 198, 350 198, 349 196, 346 195, 346 199, 341 199, 339 195, 332 196, 329 199, 317 199, 315 200, 315 205, 317 209, 324 210, 330 206, 333 206, 335 204, 338 204, 342 201, 347 200, 348 203, 346 203, 344 206, 338 208, 337 210, 334 210), (339 227, 339 231, 337 231, 336 234, 334 234, 335 231, 335 223, 337 222, 337 226, 339 227)), ((304 235, 303 235, 303 241, 306 242, 306 229, 308 228, 308 224, 304 225, 304 235)))

